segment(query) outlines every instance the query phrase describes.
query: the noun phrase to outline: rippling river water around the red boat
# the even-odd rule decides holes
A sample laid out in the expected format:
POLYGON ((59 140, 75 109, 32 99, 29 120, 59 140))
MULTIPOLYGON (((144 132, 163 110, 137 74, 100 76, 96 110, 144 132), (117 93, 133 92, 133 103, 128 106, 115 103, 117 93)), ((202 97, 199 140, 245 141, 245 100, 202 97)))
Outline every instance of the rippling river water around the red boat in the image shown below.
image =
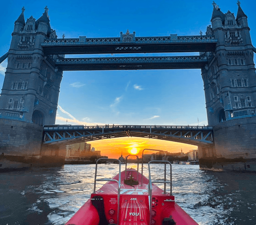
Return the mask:
MULTIPOLYGON (((163 175, 161 165, 153 164, 151 171, 152 179, 163 175)), ((200 225, 256 225, 255 173, 212 172, 179 164, 173 164, 172 171, 176 202, 200 225)), ((118 165, 98 165, 101 178, 117 172, 118 165)), ((93 164, 0 173, 0 224, 64 224, 93 192, 94 173, 93 164)), ((146 168, 143 174, 148 176, 146 168)))

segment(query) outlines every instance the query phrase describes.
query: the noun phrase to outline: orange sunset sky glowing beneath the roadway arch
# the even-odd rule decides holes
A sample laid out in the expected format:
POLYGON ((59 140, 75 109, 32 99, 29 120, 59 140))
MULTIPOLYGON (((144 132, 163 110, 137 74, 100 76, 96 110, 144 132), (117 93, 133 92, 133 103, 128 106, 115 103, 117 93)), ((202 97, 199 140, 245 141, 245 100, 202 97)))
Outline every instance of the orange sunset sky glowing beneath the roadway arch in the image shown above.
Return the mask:
MULTIPOLYGON (((159 149, 170 153, 178 153, 181 149, 183 153, 187 153, 189 150, 197 149, 197 146, 189 144, 132 137, 104 139, 88 143, 90 143, 95 150, 101 151, 102 156, 108 156, 109 158, 119 158, 121 152, 124 157, 130 154, 139 155, 139 157, 141 157, 144 148, 159 149)), ((145 153, 147 154, 147 151, 145 151, 145 153)))

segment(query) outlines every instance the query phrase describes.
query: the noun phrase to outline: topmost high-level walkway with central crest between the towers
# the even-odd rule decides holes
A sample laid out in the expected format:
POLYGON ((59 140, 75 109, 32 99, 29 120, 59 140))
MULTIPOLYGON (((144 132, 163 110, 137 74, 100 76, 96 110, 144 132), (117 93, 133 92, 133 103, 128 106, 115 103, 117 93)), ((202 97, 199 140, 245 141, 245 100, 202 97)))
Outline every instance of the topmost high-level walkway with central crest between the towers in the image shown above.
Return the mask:
POLYGON ((46 54, 98 54, 98 53, 164 53, 210 52, 215 49, 214 36, 170 36, 45 39, 41 46, 46 54))

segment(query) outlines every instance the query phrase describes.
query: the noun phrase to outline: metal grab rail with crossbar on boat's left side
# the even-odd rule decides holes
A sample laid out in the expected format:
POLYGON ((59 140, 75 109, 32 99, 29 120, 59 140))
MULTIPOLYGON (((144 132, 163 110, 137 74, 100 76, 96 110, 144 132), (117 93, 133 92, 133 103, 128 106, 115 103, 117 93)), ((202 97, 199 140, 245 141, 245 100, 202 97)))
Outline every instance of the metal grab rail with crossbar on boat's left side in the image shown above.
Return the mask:
POLYGON ((115 179, 110 179, 110 178, 106 178, 106 179, 96 179, 97 178, 97 166, 98 166, 98 162, 100 160, 106 160, 105 158, 100 158, 96 161, 96 166, 95 166, 95 178, 94 178, 94 188, 93 188, 93 193, 95 193, 95 189, 96 189, 96 181, 115 181, 118 183, 118 191, 117 191, 117 225, 119 223, 119 208, 120 208, 120 187, 121 187, 121 161, 119 159, 107 159, 108 161, 117 161, 119 163, 119 177, 118 180, 115 179))

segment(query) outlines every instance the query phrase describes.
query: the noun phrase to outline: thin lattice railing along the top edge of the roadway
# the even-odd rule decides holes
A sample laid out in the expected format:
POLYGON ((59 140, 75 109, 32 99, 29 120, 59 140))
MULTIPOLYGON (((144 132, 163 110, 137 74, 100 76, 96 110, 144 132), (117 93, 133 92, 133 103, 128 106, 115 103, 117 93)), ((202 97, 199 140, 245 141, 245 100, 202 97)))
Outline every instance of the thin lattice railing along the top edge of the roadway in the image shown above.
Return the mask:
POLYGON ((44 130, 79 130, 79 129, 124 129, 124 128, 151 128, 151 129, 202 129, 211 130, 212 126, 157 126, 157 125, 96 125, 96 126, 65 126, 65 125, 47 125, 44 130))

